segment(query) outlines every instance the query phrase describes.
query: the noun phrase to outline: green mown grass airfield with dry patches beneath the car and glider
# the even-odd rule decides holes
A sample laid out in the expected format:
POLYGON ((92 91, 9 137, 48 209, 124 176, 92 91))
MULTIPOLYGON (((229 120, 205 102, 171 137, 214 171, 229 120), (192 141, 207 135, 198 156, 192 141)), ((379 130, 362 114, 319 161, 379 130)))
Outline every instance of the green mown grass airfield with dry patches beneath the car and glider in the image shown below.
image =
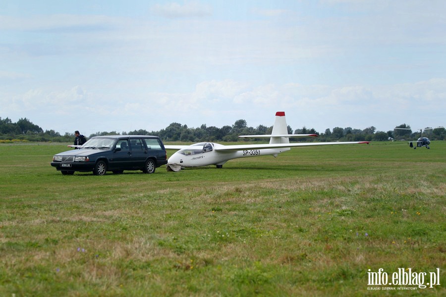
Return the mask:
POLYGON ((63 150, 0 145, 0 296, 446 295, 446 142, 106 176, 62 176, 63 150), (440 285, 369 286, 380 268, 440 285))

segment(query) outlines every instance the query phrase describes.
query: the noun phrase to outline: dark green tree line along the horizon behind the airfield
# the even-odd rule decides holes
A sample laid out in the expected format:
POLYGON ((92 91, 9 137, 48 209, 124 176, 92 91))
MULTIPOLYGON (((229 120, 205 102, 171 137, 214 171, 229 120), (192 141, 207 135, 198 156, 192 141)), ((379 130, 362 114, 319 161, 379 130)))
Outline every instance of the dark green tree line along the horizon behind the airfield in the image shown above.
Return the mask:
MULTIPOLYGON (((389 141, 389 140, 414 140, 420 137, 420 131, 412 131, 409 125, 401 124, 397 128, 387 132, 376 131, 374 126, 361 129, 354 129, 351 127, 333 129, 326 129, 324 133, 319 133, 314 128, 302 127, 301 129, 293 130, 290 126, 288 134, 317 134, 319 137, 314 138, 296 138, 294 141, 389 141)), ((245 120, 240 119, 235 121, 231 126, 223 126, 218 128, 215 126, 208 127, 206 124, 198 128, 189 128, 187 125, 180 123, 171 123, 165 129, 160 131, 147 131, 144 129, 134 130, 129 132, 97 132, 88 136, 103 135, 155 135, 159 136, 165 142, 181 141, 181 142, 236 142, 241 140, 239 135, 263 135, 271 134, 273 126, 259 125, 256 128, 248 127, 245 120)), ((433 130, 423 131, 423 136, 429 137, 431 140, 446 140, 445 128, 438 128, 433 130)), ((0 140, 25 140, 33 142, 72 142, 74 133, 65 133, 60 135, 54 130, 43 131, 41 127, 33 124, 27 118, 21 118, 13 123, 9 118, 2 119, 0 117, 0 140)), ((293 140, 291 138, 291 140, 293 140)))

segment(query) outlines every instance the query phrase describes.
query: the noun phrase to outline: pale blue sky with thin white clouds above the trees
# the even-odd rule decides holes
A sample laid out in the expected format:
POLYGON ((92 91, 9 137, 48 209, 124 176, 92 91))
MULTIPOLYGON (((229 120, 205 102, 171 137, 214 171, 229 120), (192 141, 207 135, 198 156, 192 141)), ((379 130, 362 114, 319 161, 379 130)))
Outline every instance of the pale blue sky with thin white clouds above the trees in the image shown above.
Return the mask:
POLYGON ((443 0, 0 0, 0 117, 44 131, 244 119, 446 125, 443 0))

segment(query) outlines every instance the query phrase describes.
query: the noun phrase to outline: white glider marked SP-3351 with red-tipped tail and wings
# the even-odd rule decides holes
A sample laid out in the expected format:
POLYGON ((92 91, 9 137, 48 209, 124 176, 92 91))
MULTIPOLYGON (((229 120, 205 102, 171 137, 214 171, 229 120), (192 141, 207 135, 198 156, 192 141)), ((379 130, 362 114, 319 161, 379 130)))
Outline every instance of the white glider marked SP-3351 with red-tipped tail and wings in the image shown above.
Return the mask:
POLYGON ((324 145, 350 145, 369 144, 369 142, 326 142, 326 143, 298 143, 290 144, 289 138, 317 137, 316 134, 288 134, 285 121, 285 112, 276 112, 271 135, 242 135, 241 138, 269 138, 270 144, 258 145, 230 145, 224 146, 216 143, 198 143, 190 146, 169 146, 166 149, 179 149, 167 160, 167 170, 180 171, 185 167, 200 167, 216 165, 222 168, 228 160, 236 158, 277 155, 294 147, 324 146, 324 145))

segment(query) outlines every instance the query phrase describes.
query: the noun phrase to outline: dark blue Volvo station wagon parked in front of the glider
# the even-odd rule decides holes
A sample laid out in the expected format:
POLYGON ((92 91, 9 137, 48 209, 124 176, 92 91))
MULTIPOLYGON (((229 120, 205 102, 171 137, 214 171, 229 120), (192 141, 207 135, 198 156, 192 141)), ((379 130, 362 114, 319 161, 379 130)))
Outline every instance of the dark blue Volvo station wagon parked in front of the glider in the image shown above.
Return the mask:
POLYGON ((120 174, 124 170, 154 173, 155 168, 167 164, 164 144, 157 136, 109 135, 92 137, 82 147, 60 152, 51 166, 63 175, 75 171, 93 171, 104 175, 107 171, 120 174))

